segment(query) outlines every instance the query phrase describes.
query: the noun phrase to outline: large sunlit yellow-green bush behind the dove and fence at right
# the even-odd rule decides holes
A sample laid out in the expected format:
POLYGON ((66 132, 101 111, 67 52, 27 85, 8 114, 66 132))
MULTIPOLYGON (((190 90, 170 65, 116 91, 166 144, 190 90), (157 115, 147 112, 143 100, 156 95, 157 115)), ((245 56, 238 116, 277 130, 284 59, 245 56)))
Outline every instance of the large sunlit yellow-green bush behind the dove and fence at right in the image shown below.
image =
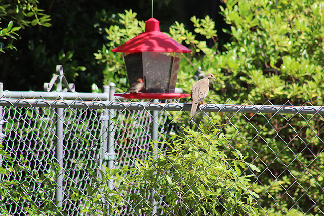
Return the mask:
MULTIPOLYGON (((227 31, 231 36, 228 44, 218 44, 217 22, 208 16, 191 18, 194 32, 186 30, 182 23, 175 22, 170 26, 169 34, 193 50, 192 56, 183 55, 177 87, 189 93, 195 82, 192 77, 201 68, 204 73, 213 73, 217 79, 211 82, 205 101, 323 105, 322 1, 228 0, 226 8, 221 10, 231 26, 227 31), (205 36, 206 40, 197 40, 197 34, 205 36)), ((134 21, 135 15, 128 13, 119 21, 137 23, 136 28, 139 28, 140 22, 134 21)), ((113 33, 107 29, 106 32, 113 33)), ((113 35, 127 40, 127 31, 119 30, 118 33, 113 35)), ((109 50, 116 46, 119 44, 106 44, 109 50)), ((105 57, 97 56, 98 60, 109 62, 110 73, 115 77, 125 78, 121 55, 108 53, 105 57), (114 73, 114 70, 118 72, 114 73)), ((125 82, 115 79, 117 86, 126 88, 125 82)), ((201 115, 201 112, 197 113, 197 121, 201 115)), ((258 204, 264 209, 263 213, 271 208, 275 213, 286 214, 296 205, 303 212, 320 213, 324 203, 324 197, 319 196, 324 187, 320 168, 324 154, 320 139, 324 136, 324 121, 320 115, 209 115, 222 121, 229 142, 248 155, 248 161, 255 158, 253 163, 266 170, 255 179, 263 185, 258 192, 258 204)), ((173 120, 187 125, 188 117, 175 115, 173 120)))

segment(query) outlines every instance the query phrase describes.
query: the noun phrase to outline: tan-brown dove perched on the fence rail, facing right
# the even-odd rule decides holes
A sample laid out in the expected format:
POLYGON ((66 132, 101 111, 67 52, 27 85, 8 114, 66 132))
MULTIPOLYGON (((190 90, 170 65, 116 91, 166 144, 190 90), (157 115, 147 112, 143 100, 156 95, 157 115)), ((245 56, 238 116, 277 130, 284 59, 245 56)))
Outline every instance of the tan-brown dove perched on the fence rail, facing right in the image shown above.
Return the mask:
POLYGON ((210 79, 215 79, 214 75, 211 73, 207 74, 203 79, 200 79, 192 85, 190 118, 193 118, 195 115, 199 102, 203 101, 207 96, 210 79))

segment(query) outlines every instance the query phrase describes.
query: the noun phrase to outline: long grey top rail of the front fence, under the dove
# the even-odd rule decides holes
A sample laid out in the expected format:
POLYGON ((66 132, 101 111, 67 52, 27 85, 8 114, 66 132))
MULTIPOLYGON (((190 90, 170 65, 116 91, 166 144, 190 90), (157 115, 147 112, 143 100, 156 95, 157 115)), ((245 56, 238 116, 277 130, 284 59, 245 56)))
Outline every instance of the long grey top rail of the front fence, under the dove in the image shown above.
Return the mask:
MULTIPOLYGON (((0 98, 0 106, 16 107, 52 107, 52 108, 89 108, 116 110, 165 110, 190 111, 191 104, 159 103, 159 102, 120 102, 120 101, 77 101, 77 100, 45 100, 45 99, 12 99, 0 98)), ((283 114, 324 114, 324 106, 284 106, 284 105, 232 105, 204 104, 200 106, 204 112, 226 113, 283 113, 283 114)))

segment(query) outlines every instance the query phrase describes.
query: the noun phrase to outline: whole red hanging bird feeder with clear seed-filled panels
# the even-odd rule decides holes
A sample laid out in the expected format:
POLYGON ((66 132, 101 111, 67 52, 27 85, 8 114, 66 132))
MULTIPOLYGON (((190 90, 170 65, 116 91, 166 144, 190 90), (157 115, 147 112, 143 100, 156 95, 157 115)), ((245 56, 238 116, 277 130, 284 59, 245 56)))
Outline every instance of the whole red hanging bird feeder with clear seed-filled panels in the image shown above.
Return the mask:
MULTIPOLYGON (((159 21, 150 18, 145 22, 145 32, 112 50, 123 52, 128 82, 131 85, 138 78, 144 80, 147 98, 163 98, 163 93, 174 94, 175 98, 188 97, 190 94, 176 94, 178 70, 181 53, 192 52, 160 31, 159 21), (156 94, 158 93, 158 94, 156 94), (154 96, 153 96, 154 95, 154 96), (181 96, 186 95, 186 96, 181 96), (188 96, 187 96, 188 95, 188 96)), ((138 93, 138 98, 143 98, 138 93)), ((116 94, 119 95, 119 94, 116 94)), ((128 97, 125 94, 123 97, 128 97)), ((131 98, 137 98, 132 94, 131 98)))

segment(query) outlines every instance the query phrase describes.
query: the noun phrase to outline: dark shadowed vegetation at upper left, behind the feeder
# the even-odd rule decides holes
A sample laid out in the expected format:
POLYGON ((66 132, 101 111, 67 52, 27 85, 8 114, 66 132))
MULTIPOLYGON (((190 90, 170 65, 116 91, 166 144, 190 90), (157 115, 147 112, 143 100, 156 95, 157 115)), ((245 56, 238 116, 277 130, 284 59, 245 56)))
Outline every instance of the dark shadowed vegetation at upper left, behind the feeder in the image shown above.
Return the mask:
MULTIPOLYGON (((161 22, 161 29, 167 31, 175 20, 190 24, 193 14, 219 16, 219 7, 210 2, 155 0, 154 17, 161 22)), ((4 89, 43 91, 44 82, 52 78, 57 64, 63 65, 65 76, 68 82, 75 83, 76 91, 89 92, 93 83, 102 89, 104 80, 109 80, 103 75, 108 68, 97 63, 94 53, 107 42, 104 29, 122 25, 117 21, 118 13, 129 9, 138 13, 139 20, 151 17, 151 1, 2 0, 0 29, 7 28, 10 21, 12 28, 21 27, 14 31, 19 36, 12 34, 17 40, 0 35, 2 47, 12 44, 17 49, 0 53, 4 89)))

